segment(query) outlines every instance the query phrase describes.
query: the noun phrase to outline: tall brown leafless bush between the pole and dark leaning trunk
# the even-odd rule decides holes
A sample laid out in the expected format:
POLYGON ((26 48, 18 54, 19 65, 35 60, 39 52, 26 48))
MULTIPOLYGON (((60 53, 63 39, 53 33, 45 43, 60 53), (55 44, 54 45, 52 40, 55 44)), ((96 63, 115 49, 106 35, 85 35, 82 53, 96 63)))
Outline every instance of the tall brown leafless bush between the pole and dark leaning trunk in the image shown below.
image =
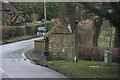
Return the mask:
POLYGON ((79 44, 92 45, 93 41, 93 24, 92 20, 85 20, 78 24, 79 44))

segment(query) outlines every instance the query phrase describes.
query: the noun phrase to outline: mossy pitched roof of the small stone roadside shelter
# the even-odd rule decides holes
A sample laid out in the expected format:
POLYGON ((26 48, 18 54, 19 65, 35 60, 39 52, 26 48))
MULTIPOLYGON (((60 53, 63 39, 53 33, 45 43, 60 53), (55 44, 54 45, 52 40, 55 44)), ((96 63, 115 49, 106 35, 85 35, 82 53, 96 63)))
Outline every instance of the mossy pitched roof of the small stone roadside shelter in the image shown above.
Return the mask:
POLYGON ((68 27, 63 26, 62 24, 55 25, 50 31, 45 34, 45 37, 48 37, 51 34, 71 34, 68 27))

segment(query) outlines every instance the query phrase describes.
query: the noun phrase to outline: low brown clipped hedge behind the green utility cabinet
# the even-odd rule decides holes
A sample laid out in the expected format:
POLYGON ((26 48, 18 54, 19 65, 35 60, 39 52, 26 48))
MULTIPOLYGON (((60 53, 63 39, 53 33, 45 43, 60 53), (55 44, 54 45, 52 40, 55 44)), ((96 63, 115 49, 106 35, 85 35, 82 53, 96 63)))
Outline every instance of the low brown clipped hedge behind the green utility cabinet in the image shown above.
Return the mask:
POLYGON ((109 50, 112 52, 113 62, 120 62, 119 48, 99 48, 99 47, 79 47, 79 59, 92 60, 92 61, 103 61, 104 51, 109 50))

